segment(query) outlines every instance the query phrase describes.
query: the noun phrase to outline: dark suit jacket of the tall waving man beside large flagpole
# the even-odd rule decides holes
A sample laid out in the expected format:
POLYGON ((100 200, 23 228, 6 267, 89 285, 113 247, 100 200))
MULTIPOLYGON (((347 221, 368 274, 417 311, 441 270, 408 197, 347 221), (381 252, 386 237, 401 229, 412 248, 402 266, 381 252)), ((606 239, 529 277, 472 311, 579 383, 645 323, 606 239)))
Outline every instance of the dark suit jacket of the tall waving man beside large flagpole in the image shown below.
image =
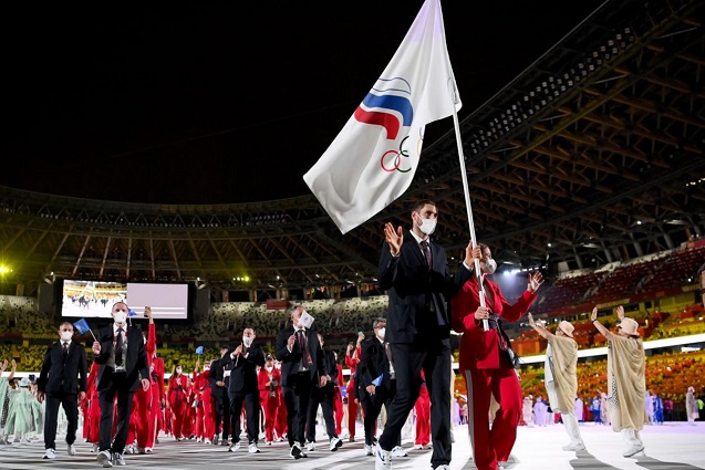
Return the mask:
POLYGON ((471 271, 462 263, 450 274, 446 250, 433 241, 431 253, 433 265, 428 267, 411 232, 404 234, 398 257, 392 257, 386 242, 382 248, 377 279, 390 296, 385 334, 390 343, 413 343, 419 334, 450 336, 446 302, 470 279, 471 271), (444 318, 442 326, 437 314, 444 318))

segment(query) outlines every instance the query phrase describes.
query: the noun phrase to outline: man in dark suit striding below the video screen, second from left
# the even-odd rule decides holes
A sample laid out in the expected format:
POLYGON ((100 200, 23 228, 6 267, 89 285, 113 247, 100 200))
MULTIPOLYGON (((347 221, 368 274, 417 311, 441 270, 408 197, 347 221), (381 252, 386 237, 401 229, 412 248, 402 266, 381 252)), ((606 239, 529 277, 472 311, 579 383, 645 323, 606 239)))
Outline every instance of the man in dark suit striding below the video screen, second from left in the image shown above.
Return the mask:
POLYGON ((97 393, 101 404, 101 442, 97 461, 103 467, 123 466, 123 450, 127 440, 127 426, 132 410, 132 397, 142 383, 149 388, 149 366, 144 336, 137 326, 128 326, 127 304, 116 302, 111 315, 114 323, 99 332, 93 343, 97 373, 97 393), (121 330, 122 331, 118 331, 121 330), (122 336, 122 348, 120 347, 122 336), (122 354, 120 353, 122 349, 122 354), (117 431, 112 441, 113 401, 117 397, 117 431))

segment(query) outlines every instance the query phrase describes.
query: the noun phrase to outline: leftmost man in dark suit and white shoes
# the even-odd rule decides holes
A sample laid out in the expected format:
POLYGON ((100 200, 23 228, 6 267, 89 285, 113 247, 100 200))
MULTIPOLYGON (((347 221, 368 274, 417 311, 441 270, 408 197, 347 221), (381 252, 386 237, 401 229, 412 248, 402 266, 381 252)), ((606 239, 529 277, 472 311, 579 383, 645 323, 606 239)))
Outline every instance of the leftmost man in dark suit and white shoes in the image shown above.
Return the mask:
POLYGON ((75 455, 73 442, 79 426, 79 401, 83 401, 86 390, 86 364, 83 345, 72 341, 73 325, 63 322, 59 326, 60 341, 49 346, 44 355, 42 370, 37 382, 37 398, 46 398, 44 411, 45 459, 54 458, 56 446, 56 417, 59 405, 66 414, 66 445, 70 456, 75 455), (65 345, 65 346, 64 346, 65 345), (51 451, 50 451, 51 450, 51 451))

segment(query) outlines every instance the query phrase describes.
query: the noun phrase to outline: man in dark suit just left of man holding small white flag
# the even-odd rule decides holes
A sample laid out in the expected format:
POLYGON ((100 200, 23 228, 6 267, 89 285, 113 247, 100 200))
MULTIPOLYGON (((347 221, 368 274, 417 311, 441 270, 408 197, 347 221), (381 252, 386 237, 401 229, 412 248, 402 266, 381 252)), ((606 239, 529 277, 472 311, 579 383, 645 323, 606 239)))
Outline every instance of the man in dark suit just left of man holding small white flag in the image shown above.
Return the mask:
POLYGON ((257 366, 265 366, 265 353, 255 341, 255 330, 245 328, 242 342, 224 356, 229 363, 226 367, 230 370, 230 384, 228 397, 230 399, 230 422, 232 440, 228 450, 234 451, 240 447, 240 415, 245 403, 245 416, 247 419, 248 451, 259 453, 257 442, 259 440, 259 387, 257 382, 257 366))

